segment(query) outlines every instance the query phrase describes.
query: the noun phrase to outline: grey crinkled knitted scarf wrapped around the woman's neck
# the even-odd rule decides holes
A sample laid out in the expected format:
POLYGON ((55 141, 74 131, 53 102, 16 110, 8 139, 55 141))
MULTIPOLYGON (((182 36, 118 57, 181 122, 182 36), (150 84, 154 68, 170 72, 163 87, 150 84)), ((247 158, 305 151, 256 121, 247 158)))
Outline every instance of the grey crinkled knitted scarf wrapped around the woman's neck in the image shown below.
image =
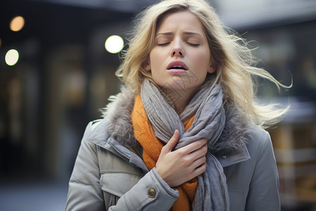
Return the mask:
MULTIPOLYGON (((225 110, 220 85, 215 84, 211 91, 210 87, 211 81, 204 84, 183 113, 178 115, 168 103, 170 102, 168 96, 162 94, 154 84, 145 79, 140 96, 157 138, 167 143, 178 129, 180 139, 175 150, 202 138, 207 139, 211 149, 223 132, 225 110), (195 119, 191 127, 185 132, 183 123, 194 115, 195 119)), ((223 167, 209 151, 206 153, 206 163, 206 171, 197 177, 198 186, 192 209, 229 210, 228 187, 223 167)))

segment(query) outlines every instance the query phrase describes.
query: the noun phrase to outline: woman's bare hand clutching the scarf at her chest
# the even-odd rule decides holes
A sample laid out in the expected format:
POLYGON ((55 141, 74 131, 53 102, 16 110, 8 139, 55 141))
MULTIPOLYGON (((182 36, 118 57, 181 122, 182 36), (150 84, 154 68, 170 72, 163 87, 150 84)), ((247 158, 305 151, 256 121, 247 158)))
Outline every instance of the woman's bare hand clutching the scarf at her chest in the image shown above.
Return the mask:
POLYGON ((162 148, 156 163, 158 174, 171 187, 179 186, 206 170, 206 139, 199 139, 172 151, 178 140, 179 132, 176 130, 170 141, 162 148))

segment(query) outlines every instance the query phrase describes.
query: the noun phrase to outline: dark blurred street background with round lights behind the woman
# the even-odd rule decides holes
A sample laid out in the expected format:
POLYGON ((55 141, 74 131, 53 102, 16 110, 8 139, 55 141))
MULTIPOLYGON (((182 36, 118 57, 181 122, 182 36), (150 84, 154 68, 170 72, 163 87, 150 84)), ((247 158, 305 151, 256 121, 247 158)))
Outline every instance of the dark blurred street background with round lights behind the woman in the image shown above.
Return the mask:
MULTIPOLYGON (((136 14, 154 2, 1 0, 0 210, 65 209, 86 124, 119 91, 119 52, 136 14)), ((254 40, 261 67, 283 84, 293 79, 281 94, 260 81, 258 97, 291 103, 269 129, 282 210, 315 211, 316 1, 211 4, 226 25, 254 40)))

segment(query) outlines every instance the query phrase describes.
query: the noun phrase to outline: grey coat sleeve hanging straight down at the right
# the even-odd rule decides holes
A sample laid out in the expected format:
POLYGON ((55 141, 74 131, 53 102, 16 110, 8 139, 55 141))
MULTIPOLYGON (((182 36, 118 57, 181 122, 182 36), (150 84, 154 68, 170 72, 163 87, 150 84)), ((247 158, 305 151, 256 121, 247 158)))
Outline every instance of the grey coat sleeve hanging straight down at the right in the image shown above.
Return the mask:
POLYGON ((246 199, 246 209, 251 211, 279 211, 279 177, 270 135, 264 141, 256 162, 246 199))

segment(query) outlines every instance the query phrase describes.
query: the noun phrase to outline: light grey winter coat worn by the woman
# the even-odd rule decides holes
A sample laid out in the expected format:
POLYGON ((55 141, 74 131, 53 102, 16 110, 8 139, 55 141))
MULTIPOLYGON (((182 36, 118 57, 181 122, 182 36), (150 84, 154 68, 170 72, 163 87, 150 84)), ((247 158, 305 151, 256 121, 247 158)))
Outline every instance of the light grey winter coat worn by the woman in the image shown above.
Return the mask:
MULTIPOLYGON (((124 107, 124 100, 112 108, 117 106, 124 107)), ((126 115, 110 109, 111 115, 88 124, 70 178, 66 210, 161 211, 169 210, 178 198, 178 191, 155 168, 147 170, 142 149, 133 139, 129 107, 126 115)), ((280 210, 270 136, 257 127, 246 129, 244 122, 237 124, 235 116, 226 117, 222 139, 238 139, 239 147, 225 150, 223 144, 212 152, 226 175, 230 210, 280 210)))

